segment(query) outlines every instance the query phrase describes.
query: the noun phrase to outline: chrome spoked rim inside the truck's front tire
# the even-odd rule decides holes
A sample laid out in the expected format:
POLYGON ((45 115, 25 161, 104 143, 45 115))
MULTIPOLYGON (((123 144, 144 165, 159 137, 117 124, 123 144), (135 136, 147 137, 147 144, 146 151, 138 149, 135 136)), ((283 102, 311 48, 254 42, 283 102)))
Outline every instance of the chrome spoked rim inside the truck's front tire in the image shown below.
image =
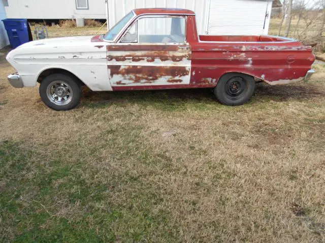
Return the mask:
POLYGON ((73 92, 66 82, 53 81, 46 90, 47 98, 56 105, 67 105, 71 102, 73 92))

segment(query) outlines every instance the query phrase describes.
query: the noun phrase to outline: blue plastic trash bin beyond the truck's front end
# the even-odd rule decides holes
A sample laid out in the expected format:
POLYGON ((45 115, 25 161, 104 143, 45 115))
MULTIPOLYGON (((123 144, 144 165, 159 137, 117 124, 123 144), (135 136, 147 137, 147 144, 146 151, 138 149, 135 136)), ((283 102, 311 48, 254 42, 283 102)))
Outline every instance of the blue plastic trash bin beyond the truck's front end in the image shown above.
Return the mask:
POLYGON ((8 33, 11 48, 32 41, 30 27, 26 19, 4 19, 5 29, 8 33))

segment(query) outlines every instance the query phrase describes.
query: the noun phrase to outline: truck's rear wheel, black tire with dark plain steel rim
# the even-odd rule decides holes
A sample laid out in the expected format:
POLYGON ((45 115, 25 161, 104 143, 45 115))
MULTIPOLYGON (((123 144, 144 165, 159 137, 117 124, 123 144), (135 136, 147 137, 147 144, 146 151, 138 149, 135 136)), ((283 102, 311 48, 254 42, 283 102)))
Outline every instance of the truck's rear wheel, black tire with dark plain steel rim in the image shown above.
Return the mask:
POLYGON ((214 88, 214 95, 224 105, 237 106, 246 103, 255 90, 254 77, 243 73, 224 74, 214 88))

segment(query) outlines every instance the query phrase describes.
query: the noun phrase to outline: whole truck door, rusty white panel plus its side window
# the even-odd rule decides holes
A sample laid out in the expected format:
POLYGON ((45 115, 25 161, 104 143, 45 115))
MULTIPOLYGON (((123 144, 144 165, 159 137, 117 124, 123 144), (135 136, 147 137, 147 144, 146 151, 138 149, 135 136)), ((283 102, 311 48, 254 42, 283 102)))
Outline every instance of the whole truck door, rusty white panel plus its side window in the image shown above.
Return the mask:
POLYGON ((186 17, 140 16, 118 43, 108 46, 107 65, 113 89, 189 85, 191 50, 186 43, 186 17))

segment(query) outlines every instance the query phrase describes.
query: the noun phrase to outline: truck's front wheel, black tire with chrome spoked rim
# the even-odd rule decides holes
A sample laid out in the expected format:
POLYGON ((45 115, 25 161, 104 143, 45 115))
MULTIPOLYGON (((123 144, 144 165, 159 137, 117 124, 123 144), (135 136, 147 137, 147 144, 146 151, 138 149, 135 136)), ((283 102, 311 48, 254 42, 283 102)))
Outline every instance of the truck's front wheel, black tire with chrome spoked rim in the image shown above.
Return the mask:
POLYGON ((53 110, 71 110, 81 97, 81 86, 75 77, 63 73, 50 74, 40 85, 42 101, 53 110))

